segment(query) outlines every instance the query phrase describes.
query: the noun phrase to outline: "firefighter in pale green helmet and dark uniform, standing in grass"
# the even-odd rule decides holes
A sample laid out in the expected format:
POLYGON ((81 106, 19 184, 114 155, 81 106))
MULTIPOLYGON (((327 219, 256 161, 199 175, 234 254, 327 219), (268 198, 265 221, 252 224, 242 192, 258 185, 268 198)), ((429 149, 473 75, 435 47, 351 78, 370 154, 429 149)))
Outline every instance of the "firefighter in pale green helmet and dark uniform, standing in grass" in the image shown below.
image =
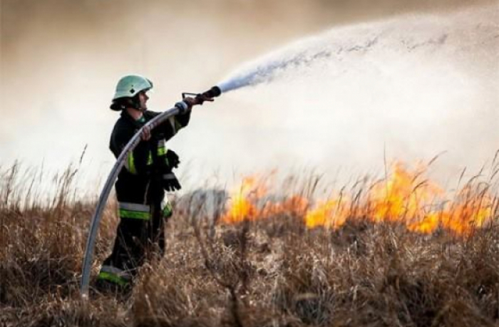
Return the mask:
MULTIPOLYGON (((121 112, 110 137, 109 147, 115 157, 145 123, 159 114, 147 110, 147 92, 151 88, 153 83, 143 76, 124 76, 118 81, 110 105, 121 112)), ((113 252, 101 266, 98 287, 130 289, 146 257, 163 256, 165 220, 173 214, 165 190, 180 190, 173 173, 180 160, 165 147, 165 142, 187 126, 192 106, 200 103, 200 98, 185 98, 177 103, 180 113, 153 131, 145 128, 140 143, 126 158, 115 183, 120 222, 113 252)))

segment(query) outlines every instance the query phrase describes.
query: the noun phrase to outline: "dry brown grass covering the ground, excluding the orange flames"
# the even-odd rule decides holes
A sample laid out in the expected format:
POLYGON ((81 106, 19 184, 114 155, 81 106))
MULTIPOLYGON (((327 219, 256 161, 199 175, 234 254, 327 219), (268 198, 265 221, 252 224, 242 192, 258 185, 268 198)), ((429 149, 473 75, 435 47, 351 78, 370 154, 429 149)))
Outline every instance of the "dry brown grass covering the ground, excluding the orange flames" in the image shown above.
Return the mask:
MULTIPOLYGON (((178 201, 165 258, 143 266, 128 299, 82 301, 95 202, 75 196, 75 174, 68 168, 53 179, 55 195, 43 197, 39 173, 0 170, 2 327, 499 326, 497 224, 469 237, 362 217, 336 231, 307 230, 297 212, 215 224, 223 192, 215 204, 202 192, 178 201)), ((101 224, 93 276, 113 242, 114 206, 101 224)))

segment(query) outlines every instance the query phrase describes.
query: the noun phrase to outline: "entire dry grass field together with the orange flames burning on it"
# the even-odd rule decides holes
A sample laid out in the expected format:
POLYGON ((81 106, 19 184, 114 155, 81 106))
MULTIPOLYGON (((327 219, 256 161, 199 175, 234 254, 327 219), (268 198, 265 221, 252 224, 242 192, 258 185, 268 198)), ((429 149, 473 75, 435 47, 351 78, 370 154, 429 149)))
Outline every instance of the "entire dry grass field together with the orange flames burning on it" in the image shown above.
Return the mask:
MULTIPOLYGON (((499 326, 495 172, 452 194, 401 164, 326 199, 313 175, 190 192, 132 294, 84 301, 93 197, 71 167, 50 196, 41 172, 4 167, 0 326, 499 326)), ((116 224, 111 200, 91 285, 116 224)))

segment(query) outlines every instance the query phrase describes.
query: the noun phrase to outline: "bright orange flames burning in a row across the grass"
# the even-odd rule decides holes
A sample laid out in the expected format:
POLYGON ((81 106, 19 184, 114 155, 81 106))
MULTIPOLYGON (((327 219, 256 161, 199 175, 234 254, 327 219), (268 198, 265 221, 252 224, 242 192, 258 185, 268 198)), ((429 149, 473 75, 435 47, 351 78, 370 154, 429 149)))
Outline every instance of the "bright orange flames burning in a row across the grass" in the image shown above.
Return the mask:
POLYGON ((232 194, 222 221, 237 223, 292 214, 303 217, 309 229, 338 229, 349 219, 362 218, 375 223, 403 224, 411 232, 431 234, 444 229, 460 235, 468 235, 490 222, 496 201, 488 188, 478 190, 466 185, 449 201, 443 188, 426 179, 425 173, 424 166, 409 170, 403 163, 395 162, 384 180, 369 187, 364 199, 353 201, 342 195, 318 201, 315 206, 300 195, 271 200, 264 179, 246 177, 232 194))

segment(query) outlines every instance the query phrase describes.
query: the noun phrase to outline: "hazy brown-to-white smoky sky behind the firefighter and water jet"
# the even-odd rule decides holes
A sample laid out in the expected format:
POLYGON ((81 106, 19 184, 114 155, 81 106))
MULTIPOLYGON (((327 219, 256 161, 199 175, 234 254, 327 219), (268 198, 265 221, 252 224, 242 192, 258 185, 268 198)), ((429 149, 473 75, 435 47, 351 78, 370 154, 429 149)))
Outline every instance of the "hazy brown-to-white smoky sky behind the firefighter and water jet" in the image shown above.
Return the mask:
POLYGON ((114 162, 108 140, 118 116, 108 105, 120 76, 140 73, 153 80, 150 109, 160 111, 182 91, 206 90, 245 61, 289 42, 319 35, 319 45, 355 45, 367 31, 386 32, 373 53, 287 72, 280 82, 196 108, 191 125, 171 142, 188 183, 196 187, 211 175, 230 180, 272 167, 348 175, 379 169, 385 154, 412 161, 441 151, 448 153, 443 167, 458 171, 484 164, 499 149, 493 110, 499 67, 490 60, 499 54, 497 1, 0 4, 0 165, 44 160, 57 169, 88 145, 89 180, 107 175, 114 162), (447 18, 460 11, 478 14, 447 18), (332 36, 324 36, 329 30, 332 36), (401 40, 444 34, 442 47, 400 51, 401 40))

